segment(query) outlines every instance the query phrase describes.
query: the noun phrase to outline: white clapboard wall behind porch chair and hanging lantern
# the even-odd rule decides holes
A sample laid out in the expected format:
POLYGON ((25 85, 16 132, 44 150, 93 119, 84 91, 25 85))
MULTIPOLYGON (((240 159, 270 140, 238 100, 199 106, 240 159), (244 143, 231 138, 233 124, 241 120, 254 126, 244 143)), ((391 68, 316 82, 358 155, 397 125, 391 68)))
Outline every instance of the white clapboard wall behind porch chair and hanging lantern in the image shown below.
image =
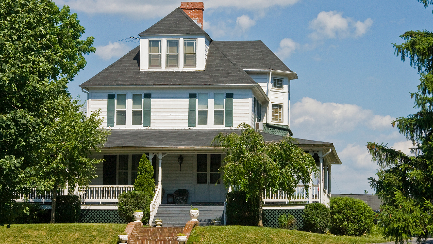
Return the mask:
POLYGON ((193 158, 195 154, 182 154, 182 156, 184 160, 181 171, 179 171, 178 163, 179 154, 169 154, 162 158, 162 188, 165 190, 162 203, 167 203, 167 194, 173 194, 177 189, 188 190, 189 196, 187 203, 191 203, 191 200, 194 199, 193 158))

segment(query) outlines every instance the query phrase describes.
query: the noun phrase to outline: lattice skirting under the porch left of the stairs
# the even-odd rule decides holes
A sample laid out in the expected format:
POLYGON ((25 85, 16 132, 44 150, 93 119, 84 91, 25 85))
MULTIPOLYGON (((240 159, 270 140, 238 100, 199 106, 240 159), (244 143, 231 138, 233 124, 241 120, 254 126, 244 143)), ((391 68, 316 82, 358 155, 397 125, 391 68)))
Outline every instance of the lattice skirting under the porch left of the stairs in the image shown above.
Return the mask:
POLYGON ((81 223, 111 223, 124 224, 117 209, 81 209, 81 223))

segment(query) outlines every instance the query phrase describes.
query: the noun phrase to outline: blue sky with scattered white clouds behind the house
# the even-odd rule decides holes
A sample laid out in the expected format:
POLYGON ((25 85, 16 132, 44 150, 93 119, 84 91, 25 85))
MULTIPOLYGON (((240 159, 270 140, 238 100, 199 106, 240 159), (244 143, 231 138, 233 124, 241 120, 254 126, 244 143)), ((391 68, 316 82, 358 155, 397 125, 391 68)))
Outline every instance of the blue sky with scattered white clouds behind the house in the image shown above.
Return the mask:
MULTIPOLYGON (((55 0, 66 4, 94 36, 97 52, 69 83, 78 87, 138 42, 119 42, 152 26, 179 7, 176 0, 55 0)), ((332 169, 332 193, 363 194, 378 166, 367 142, 408 152, 411 144, 392 128, 414 113, 409 92, 419 75, 394 54, 404 31, 432 30, 432 7, 416 0, 208 0, 204 30, 213 40, 262 40, 297 72, 291 81, 294 137, 334 143, 343 165, 332 169)))

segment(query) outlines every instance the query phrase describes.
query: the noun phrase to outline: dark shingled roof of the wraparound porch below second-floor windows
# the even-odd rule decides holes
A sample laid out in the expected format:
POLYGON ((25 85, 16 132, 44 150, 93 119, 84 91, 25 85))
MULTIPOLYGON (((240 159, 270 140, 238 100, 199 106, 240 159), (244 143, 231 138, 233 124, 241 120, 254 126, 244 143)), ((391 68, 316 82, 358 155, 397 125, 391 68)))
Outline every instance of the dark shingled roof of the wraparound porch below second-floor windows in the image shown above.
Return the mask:
MULTIPOLYGON (((240 133, 241 129, 111 129, 104 147, 191 147, 210 146, 218 133, 240 133)), ((279 141, 283 137, 261 132, 265 141, 279 141)), ((305 139, 297 139, 297 145, 325 144, 305 139)))

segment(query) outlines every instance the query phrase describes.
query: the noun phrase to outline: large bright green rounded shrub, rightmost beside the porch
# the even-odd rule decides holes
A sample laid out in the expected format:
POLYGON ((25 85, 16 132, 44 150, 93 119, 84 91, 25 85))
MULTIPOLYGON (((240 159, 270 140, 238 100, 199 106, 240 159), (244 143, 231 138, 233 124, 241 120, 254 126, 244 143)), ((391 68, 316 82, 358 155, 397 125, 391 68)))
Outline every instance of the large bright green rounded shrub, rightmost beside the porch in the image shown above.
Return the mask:
POLYGON ((330 210, 333 234, 360 236, 372 230, 375 213, 361 199, 331 198, 330 210))

